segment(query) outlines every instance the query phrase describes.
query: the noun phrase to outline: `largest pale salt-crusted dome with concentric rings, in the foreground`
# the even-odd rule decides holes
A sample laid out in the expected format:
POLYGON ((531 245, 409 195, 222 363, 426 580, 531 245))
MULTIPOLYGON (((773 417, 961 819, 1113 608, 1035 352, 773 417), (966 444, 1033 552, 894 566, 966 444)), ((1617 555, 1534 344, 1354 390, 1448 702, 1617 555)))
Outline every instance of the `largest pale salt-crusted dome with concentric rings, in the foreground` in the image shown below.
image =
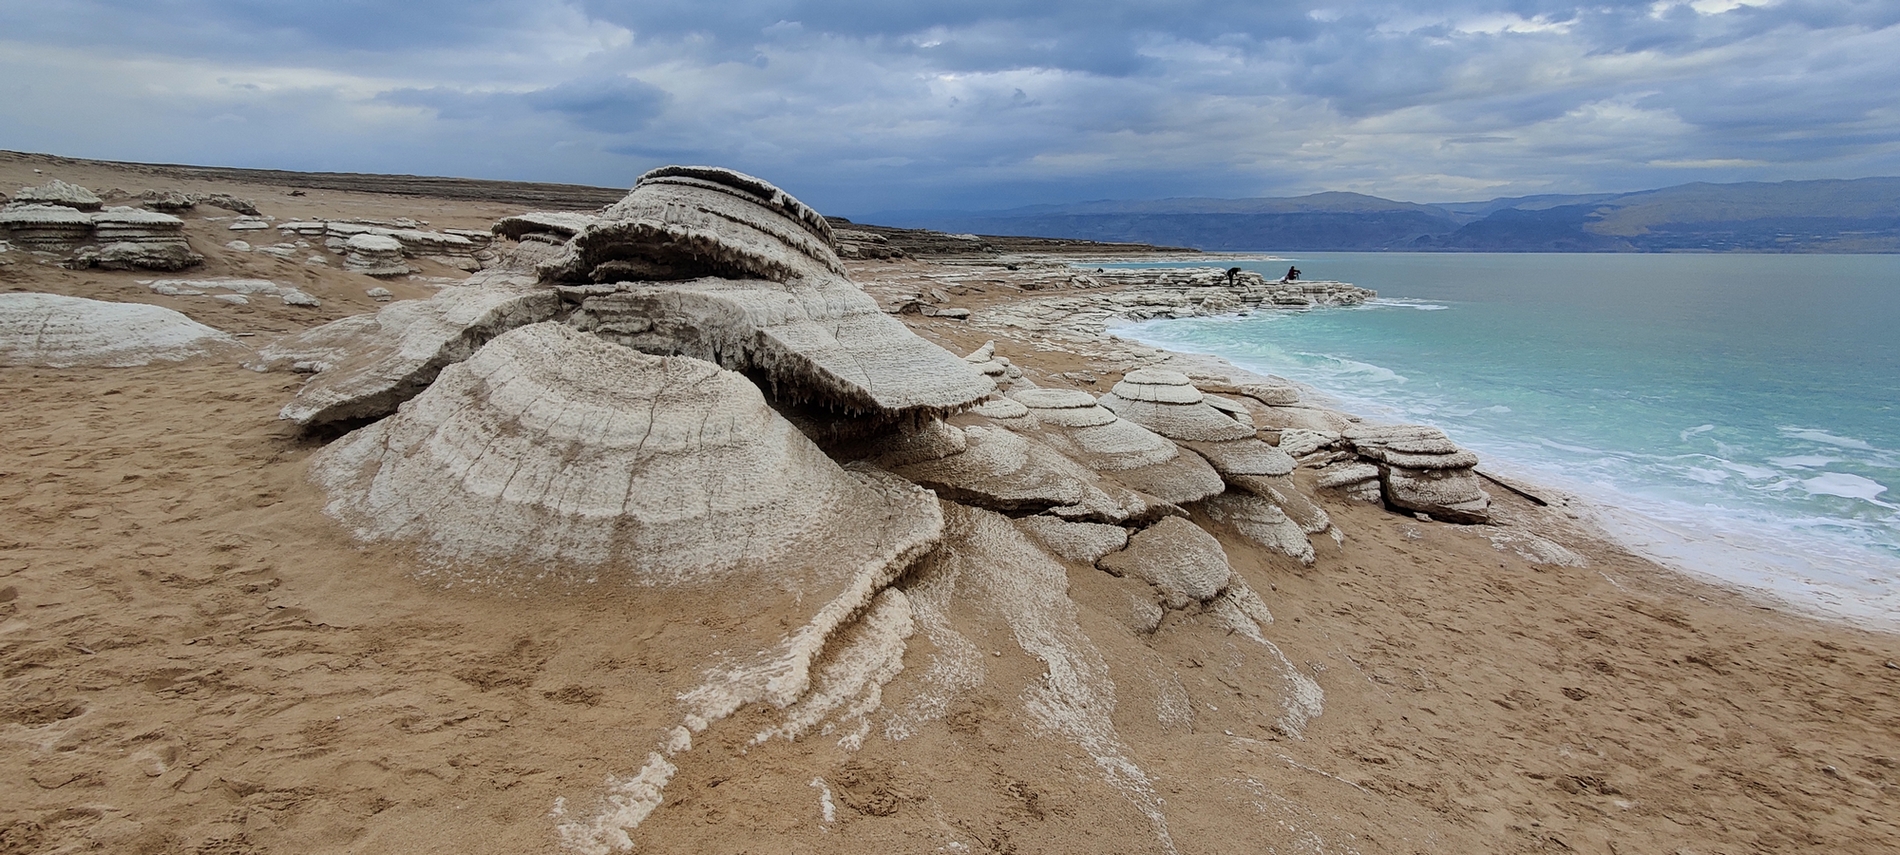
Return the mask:
POLYGON ((942 526, 935 498, 842 469, 743 376, 559 323, 445 369, 323 448, 312 477, 359 538, 490 580, 882 587, 942 526))

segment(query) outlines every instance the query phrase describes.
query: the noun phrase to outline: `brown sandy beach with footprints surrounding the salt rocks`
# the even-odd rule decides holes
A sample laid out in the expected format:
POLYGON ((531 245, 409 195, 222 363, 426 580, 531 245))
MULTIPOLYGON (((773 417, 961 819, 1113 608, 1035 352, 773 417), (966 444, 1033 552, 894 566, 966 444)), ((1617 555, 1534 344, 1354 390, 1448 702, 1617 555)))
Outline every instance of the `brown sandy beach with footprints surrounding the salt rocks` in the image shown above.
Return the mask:
MULTIPOLYGON (((8 192, 53 177, 97 192, 232 194, 274 222, 486 230, 522 200, 560 201, 484 198, 486 182, 293 188, 0 156, 8 192)), ((416 260, 414 277, 370 279, 228 249, 262 243, 232 232, 228 211, 182 217, 200 268, 65 270, 15 249, 0 255, 0 293, 165 306, 255 350, 378 310, 369 289, 426 298, 467 276, 416 260), (321 306, 141 285, 209 277, 294 285, 321 306)), ((956 355, 994 342, 1041 388, 1100 395, 1134 367, 1188 365, 1134 342, 999 323, 1032 300, 1115 291, 1047 291, 1037 277, 1060 256, 1028 249, 847 270, 880 304, 940 289, 931 312, 971 317, 897 317, 956 355)), ((277 418, 304 374, 247 370, 245 353, 0 367, 0 853, 560 851, 559 826, 591 809, 604 781, 635 775, 674 720, 703 665, 690 636, 726 631, 692 627, 692 600, 716 593, 477 589, 403 545, 357 542, 310 479, 334 433, 277 418)), ((1294 479, 1313 486, 1311 469, 1294 479)), ((1020 623, 950 598, 980 680, 933 690, 952 652, 920 629, 861 716, 861 747, 842 745, 844 730, 754 739, 779 711, 747 705, 673 758, 665 800, 631 846, 1900 849, 1900 636, 1674 574, 1592 532, 1562 496, 1537 505, 1490 492, 1486 526, 1322 500, 1341 536, 1313 538, 1311 566, 1195 513, 1271 610, 1262 644, 1191 608, 1140 627, 1129 604, 1142 581, 1062 564, 1074 627, 1115 688, 1094 711, 1113 750, 1036 718, 1028 701, 1051 665, 1020 623), (1526 545, 1539 538, 1581 560, 1526 545), (1300 680, 1288 673, 1324 695, 1292 724, 1284 686, 1300 680), (1104 773, 1110 754, 1142 770, 1146 794, 1104 773)), ((952 513, 946 526, 986 519, 952 513)), ((773 619, 788 618, 749 618, 773 619)))

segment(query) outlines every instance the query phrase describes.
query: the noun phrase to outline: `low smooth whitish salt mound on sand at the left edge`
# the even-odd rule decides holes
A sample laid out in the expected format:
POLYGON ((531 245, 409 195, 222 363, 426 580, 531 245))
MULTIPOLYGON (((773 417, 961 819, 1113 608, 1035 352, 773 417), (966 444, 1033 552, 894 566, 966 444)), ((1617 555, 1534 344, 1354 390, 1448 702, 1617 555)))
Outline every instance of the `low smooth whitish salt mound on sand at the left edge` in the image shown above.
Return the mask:
POLYGON ((133 367, 234 350, 238 340, 163 306, 0 294, 0 365, 133 367))

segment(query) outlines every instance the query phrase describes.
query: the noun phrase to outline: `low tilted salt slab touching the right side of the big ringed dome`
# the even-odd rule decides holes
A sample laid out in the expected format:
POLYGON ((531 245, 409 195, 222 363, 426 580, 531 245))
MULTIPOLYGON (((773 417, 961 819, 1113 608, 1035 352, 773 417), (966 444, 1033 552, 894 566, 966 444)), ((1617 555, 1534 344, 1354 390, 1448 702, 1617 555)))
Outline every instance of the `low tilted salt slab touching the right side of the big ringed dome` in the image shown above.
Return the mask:
POLYGON ((887 450, 876 462, 895 475, 937 490, 946 500, 992 511, 1051 513, 1096 522, 1170 513, 1163 502, 1104 483, 1054 448, 1009 429, 944 426, 944 431, 954 431, 961 441, 920 439, 887 450), (937 450, 952 452, 929 456, 937 450))

